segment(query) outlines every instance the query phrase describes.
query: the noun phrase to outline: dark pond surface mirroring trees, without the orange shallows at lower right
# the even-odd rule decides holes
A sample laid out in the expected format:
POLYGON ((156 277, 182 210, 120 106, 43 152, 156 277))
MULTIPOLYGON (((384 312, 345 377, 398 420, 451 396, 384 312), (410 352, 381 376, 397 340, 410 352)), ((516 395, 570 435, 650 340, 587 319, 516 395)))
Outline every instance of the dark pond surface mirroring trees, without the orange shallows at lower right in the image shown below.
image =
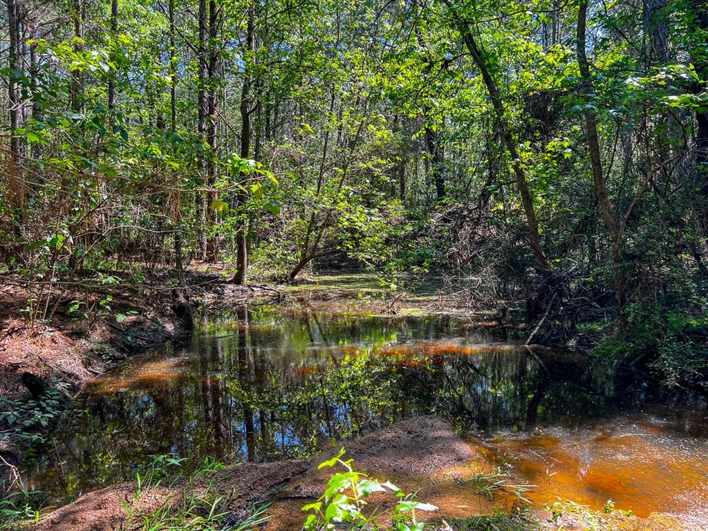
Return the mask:
POLYGON ((168 346, 86 389, 51 462, 32 471, 35 484, 62 494, 113 483, 164 453, 186 467, 207 455, 304 457, 418 414, 463 430, 532 433, 599 425, 664 400, 634 375, 532 352, 503 331, 456 319, 241 307, 202 329, 190 345, 168 346))

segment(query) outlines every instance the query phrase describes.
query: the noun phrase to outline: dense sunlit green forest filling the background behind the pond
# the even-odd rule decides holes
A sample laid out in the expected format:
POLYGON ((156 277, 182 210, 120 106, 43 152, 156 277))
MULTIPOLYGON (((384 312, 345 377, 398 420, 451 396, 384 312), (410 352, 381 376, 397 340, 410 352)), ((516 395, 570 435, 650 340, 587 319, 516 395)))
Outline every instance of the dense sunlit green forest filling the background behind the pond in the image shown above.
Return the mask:
POLYGON ((9 270, 181 282, 224 261, 243 283, 346 255, 521 291, 534 318, 617 316, 641 336, 625 350, 702 348, 702 0, 5 0, 1 17, 9 270))

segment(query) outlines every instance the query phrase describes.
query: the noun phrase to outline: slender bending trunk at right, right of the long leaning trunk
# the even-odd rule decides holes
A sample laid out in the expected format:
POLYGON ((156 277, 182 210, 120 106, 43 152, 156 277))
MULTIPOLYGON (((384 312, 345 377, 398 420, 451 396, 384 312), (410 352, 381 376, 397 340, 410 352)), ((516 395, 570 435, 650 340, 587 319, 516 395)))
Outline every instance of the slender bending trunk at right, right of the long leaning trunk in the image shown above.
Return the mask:
MULTIPOLYGON (((576 33, 576 53, 578 57, 578 67, 580 69, 583 87, 589 93, 593 93, 593 81, 590 77, 590 62, 586 53, 586 22, 588 18, 588 0, 580 0, 578 7, 578 28, 576 33)), ((619 220, 612 207, 610 195, 607 193, 605 177, 603 176, 603 164, 600 156, 600 139, 598 137, 598 119, 595 112, 586 104, 585 110, 586 133, 588 135, 588 151, 590 152, 590 166, 593 171, 593 189, 595 197, 598 198, 598 205, 603 212, 605 225, 610 232, 614 245, 612 246, 612 261, 615 265, 615 298, 617 306, 622 309, 624 305, 624 280, 622 275, 622 232, 619 220)))

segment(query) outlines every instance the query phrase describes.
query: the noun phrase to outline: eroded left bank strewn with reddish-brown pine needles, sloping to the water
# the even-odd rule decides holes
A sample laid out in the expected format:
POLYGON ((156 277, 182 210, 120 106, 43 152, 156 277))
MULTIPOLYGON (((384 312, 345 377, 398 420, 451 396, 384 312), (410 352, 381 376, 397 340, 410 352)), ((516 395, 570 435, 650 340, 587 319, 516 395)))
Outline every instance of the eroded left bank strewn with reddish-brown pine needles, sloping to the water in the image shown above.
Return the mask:
MULTIPOLYGON (((104 280, 128 277, 113 272, 104 280)), ((13 401, 9 413, 20 421, 28 411, 46 409, 48 390, 53 404, 47 418, 58 418, 89 380, 131 355, 189 338, 188 310, 278 297, 270 287, 236 286, 209 270, 185 272, 181 290, 173 289, 168 273, 141 282, 103 284, 91 278, 56 282, 52 290, 42 286, 0 275, 0 399, 13 401)), ((52 421, 45 419, 25 431, 43 435, 51 428, 52 421)), ((25 435, 7 430, 0 438, 0 457, 17 464, 25 435)))

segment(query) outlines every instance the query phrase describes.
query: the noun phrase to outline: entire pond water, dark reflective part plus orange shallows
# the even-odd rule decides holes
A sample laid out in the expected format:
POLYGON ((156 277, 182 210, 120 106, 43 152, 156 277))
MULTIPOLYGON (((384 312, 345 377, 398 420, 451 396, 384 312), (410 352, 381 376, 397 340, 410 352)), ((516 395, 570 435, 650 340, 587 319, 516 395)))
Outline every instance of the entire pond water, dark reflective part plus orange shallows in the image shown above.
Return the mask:
POLYGON ((434 413, 479 451, 469 474, 501 467, 535 485, 525 494, 535 503, 704 510, 705 401, 652 389, 641 375, 532 352, 464 319, 326 302, 241 308, 202 323, 188 345, 96 379, 27 474, 35 488, 76 494, 132 478, 154 455, 185 468, 207 456, 305 457, 434 413))

